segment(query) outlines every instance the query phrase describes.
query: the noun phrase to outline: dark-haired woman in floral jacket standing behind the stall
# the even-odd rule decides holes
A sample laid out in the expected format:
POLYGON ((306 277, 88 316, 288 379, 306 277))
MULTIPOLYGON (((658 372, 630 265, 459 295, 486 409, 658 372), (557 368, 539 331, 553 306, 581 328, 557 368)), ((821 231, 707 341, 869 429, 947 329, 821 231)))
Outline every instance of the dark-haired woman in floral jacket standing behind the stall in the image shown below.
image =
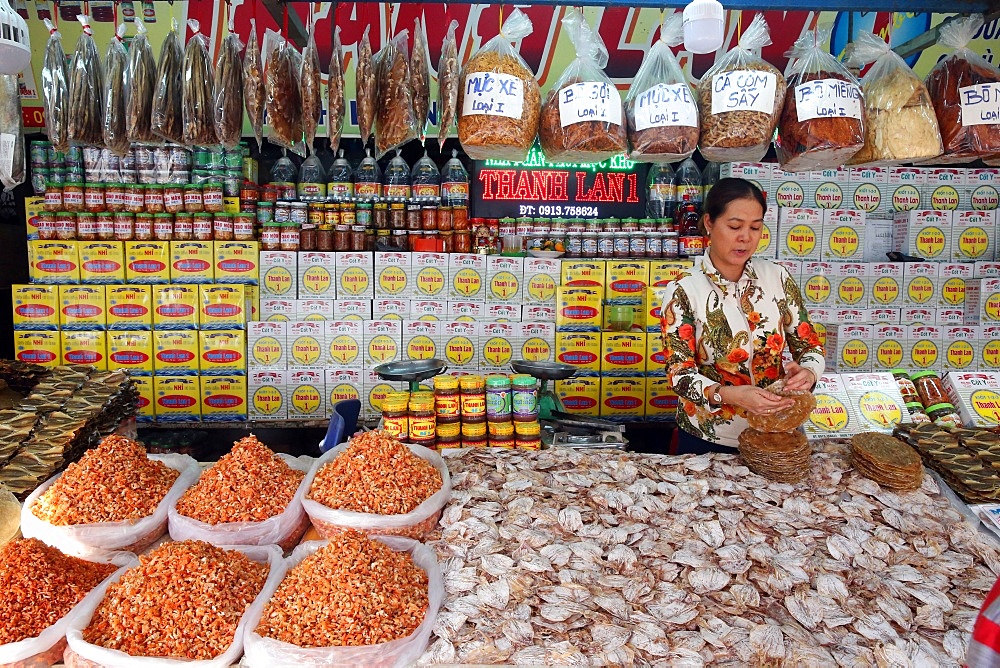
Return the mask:
POLYGON ((664 289, 661 328, 667 375, 679 397, 681 453, 732 452, 742 415, 793 404, 767 391, 810 390, 824 351, 788 271, 752 256, 767 201, 744 179, 721 179, 704 202, 706 254, 664 289), (785 345, 792 359, 782 365, 785 345))

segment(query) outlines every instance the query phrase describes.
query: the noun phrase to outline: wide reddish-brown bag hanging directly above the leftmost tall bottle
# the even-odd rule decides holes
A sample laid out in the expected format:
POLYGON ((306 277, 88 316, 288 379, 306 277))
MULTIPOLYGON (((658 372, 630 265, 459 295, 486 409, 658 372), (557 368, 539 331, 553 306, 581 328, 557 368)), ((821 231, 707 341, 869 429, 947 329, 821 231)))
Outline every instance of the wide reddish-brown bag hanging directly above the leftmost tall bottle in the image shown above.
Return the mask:
POLYGON ((268 30, 264 54, 267 66, 264 87, 267 90, 267 120, 272 144, 304 156, 302 141, 302 96, 299 88, 299 59, 284 37, 268 30))

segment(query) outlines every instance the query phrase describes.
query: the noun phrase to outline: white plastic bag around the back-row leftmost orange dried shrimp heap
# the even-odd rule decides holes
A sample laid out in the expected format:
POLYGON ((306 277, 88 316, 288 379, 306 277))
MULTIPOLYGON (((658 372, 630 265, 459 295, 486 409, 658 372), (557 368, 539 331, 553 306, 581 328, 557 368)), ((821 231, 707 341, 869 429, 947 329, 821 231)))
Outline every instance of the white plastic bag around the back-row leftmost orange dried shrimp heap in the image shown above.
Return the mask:
POLYGON ((99 524, 76 524, 55 526, 31 512, 38 497, 52 486, 62 473, 42 483, 25 500, 21 509, 21 533, 25 538, 39 540, 57 547, 66 554, 87 559, 95 552, 104 550, 126 550, 139 553, 152 545, 167 531, 167 511, 177 503, 177 499, 193 485, 200 471, 198 462, 187 455, 149 455, 154 461, 163 462, 175 471, 180 471, 170 491, 163 498, 152 515, 134 522, 102 522, 99 524))

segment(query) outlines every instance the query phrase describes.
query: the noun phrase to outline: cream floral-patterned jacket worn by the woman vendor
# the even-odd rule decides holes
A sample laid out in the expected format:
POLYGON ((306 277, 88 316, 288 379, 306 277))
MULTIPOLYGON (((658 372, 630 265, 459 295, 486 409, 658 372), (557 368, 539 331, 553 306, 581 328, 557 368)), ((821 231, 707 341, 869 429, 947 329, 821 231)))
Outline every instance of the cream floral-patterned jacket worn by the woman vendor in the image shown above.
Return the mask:
POLYGON ((784 267, 763 259, 748 261, 733 283, 705 255, 664 288, 660 325, 667 375, 679 396, 678 426, 729 447, 737 446, 746 419, 733 406, 709 404, 706 387, 771 385, 784 376, 786 343, 817 378, 825 366, 798 285, 784 267))

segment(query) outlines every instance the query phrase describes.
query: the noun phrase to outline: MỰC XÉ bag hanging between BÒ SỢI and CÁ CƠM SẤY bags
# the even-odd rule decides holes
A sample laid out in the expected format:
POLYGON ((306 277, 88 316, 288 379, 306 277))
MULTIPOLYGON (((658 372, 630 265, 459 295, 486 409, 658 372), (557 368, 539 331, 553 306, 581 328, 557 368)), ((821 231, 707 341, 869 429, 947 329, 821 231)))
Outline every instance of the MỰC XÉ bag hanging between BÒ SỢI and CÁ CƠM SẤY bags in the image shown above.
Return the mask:
POLYGON ((670 50, 684 41, 682 16, 671 14, 660 26, 625 96, 632 160, 677 162, 698 148, 698 104, 670 50))

